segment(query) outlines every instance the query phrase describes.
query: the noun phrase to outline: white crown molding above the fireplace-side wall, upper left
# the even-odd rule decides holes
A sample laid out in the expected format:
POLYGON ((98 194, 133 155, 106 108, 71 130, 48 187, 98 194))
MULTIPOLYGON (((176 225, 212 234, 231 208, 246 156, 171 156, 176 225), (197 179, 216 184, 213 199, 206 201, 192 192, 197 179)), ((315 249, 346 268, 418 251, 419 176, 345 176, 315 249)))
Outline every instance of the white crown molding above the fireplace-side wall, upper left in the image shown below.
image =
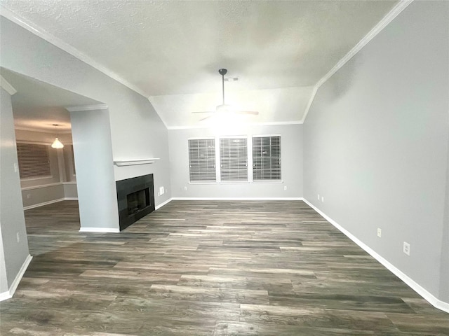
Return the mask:
POLYGON ((65 52, 68 52, 70 55, 76 57, 77 59, 80 59, 84 63, 93 66, 93 68, 97 69, 98 71, 101 71, 102 73, 105 73, 106 76, 109 76, 110 78, 116 80, 117 82, 125 85, 130 90, 137 92, 138 94, 140 94, 145 98, 148 97, 147 93, 140 90, 139 87, 129 83, 127 80, 124 80, 114 71, 94 61, 93 59, 91 59, 91 57, 79 51, 78 49, 74 48, 72 45, 69 45, 68 43, 62 41, 60 38, 51 35, 50 33, 48 33, 48 31, 42 29, 37 25, 34 25, 34 23, 32 23, 31 21, 22 18, 20 15, 14 13, 13 11, 9 10, 3 5, 0 5, 0 15, 3 16, 4 18, 7 18, 8 20, 11 20, 20 27, 27 29, 27 31, 32 32, 32 34, 39 36, 40 38, 43 38, 45 41, 55 45, 56 47, 64 50, 65 52))

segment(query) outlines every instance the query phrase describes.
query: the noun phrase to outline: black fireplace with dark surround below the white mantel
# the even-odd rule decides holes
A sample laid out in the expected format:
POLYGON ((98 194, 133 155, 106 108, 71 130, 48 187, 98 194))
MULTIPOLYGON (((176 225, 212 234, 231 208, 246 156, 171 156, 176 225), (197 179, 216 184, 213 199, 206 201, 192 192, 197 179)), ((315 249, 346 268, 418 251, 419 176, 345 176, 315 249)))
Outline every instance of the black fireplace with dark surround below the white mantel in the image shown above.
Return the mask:
POLYGON ((120 230, 154 211, 153 174, 116 181, 120 230))

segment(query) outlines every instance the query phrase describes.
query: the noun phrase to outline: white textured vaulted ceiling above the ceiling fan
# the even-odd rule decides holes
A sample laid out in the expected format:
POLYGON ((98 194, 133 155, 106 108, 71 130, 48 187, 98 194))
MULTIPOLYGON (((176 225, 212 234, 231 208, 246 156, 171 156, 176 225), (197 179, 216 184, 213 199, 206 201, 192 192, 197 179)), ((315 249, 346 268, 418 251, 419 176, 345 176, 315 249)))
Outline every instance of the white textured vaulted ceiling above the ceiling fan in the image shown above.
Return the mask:
POLYGON ((314 85, 397 1, 17 1, 1 5, 149 97, 168 127, 221 104, 302 120, 314 85))

